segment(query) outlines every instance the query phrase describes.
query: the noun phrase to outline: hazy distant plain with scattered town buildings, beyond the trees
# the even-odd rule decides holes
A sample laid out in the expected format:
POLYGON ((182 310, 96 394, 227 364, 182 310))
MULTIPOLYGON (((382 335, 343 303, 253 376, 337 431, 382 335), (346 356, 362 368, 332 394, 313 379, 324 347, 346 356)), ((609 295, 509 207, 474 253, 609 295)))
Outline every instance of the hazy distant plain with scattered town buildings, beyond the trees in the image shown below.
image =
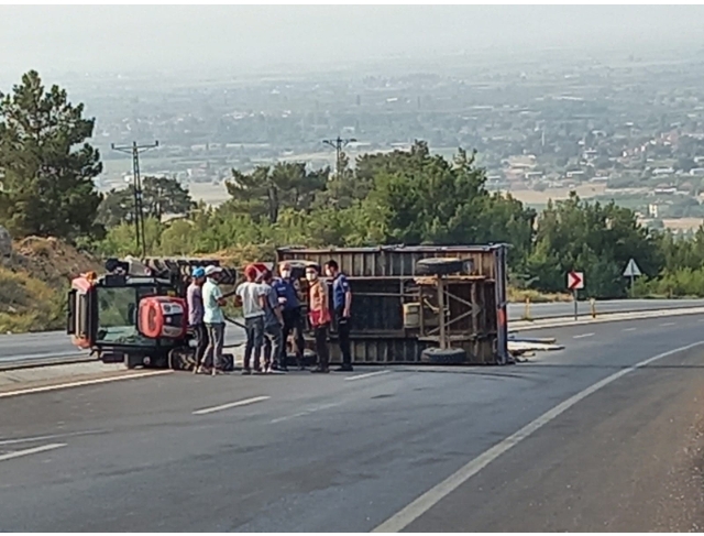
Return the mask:
POLYGON ((420 139, 443 155, 476 150, 491 189, 537 209, 574 190, 632 208, 657 228, 686 232, 704 221, 700 54, 529 65, 453 56, 425 74, 377 70, 148 85, 127 75, 76 77, 68 87, 98 118, 102 189, 131 178, 130 158, 111 143, 158 140, 142 156, 143 173, 175 176, 196 199, 217 205, 232 168, 334 166, 326 138, 355 140, 345 147, 351 165, 359 154, 420 139))

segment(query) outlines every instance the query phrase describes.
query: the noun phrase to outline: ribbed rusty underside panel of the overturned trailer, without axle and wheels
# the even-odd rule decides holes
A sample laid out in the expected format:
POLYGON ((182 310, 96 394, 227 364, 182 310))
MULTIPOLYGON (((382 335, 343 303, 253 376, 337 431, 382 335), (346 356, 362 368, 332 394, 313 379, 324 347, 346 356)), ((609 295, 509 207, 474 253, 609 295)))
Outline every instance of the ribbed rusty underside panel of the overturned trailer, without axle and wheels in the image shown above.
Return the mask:
MULTIPOLYGON (((471 260, 471 275, 480 277, 473 281, 448 278, 449 292, 460 298, 451 299, 448 304, 450 319, 457 319, 449 335, 453 346, 464 348, 470 363, 499 364, 506 362, 508 357, 506 252, 505 244, 280 248, 277 250, 277 261, 307 261, 320 265, 331 259, 338 262, 348 275, 352 289, 352 353, 354 362, 361 364, 418 363, 425 348, 437 347, 433 337, 420 337, 418 328, 404 328, 403 305, 417 300, 419 296, 414 282, 416 263, 425 258, 471 260), (468 315, 468 303, 479 306, 479 313, 468 315)), ((331 331, 331 359, 340 361, 334 326, 331 331)))

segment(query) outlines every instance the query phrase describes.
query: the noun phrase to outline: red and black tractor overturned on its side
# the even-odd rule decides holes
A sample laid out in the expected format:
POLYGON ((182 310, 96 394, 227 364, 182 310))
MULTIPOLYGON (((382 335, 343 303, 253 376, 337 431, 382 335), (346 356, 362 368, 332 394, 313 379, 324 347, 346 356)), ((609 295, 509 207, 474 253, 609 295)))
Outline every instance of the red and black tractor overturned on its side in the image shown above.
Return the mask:
MULTIPOLYGON (((173 351, 190 348, 186 289, 202 259, 108 259, 106 273, 89 272, 72 282, 67 332, 78 348, 103 362, 169 367, 173 351)), ((223 269, 223 284, 235 271, 223 269)))

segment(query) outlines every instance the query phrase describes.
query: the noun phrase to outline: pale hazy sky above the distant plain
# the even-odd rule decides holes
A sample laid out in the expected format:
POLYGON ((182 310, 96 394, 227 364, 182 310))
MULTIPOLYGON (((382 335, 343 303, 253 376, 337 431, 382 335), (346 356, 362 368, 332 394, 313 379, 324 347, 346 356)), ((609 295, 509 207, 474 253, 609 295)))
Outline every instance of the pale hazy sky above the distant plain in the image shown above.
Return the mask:
POLYGON ((0 76, 272 64, 459 50, 702 50, 704 7, 0 6, 0 76))

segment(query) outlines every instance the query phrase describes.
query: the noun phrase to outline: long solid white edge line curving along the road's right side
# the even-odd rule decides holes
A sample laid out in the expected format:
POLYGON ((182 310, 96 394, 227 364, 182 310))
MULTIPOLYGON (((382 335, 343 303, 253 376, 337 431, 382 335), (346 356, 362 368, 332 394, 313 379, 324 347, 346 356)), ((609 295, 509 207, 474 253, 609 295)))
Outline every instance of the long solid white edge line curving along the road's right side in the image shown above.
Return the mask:
POLYGON ((553 420, 554 418, 562 415, 564 412, 570 409, 572 406, 583 401, 591 394, 596 393, 598 390, 605 387, 606 385, 614 383, 616 380, 625 376, 626 374, 640 369, 642 367, 647 367, 650 363, 658 361, 660 359, 667 358, 669 355, 673 355, 675 353, 680 353, 692 348, 696 348, 698 346, 704 344, 704 341, 695 342, 693 344, 688 344, 684 347, 675 348, 674 350, 669 350, 663 353, 659 353, 652 358, 646 359, 628 369, 623 369, 610 376, 605 378, 604 380, 596 382, 595 384, 586 387, 584 391, 579 392, 578 394, 571 396, 566 401, 558 404, 552 409, 543 413, 540 417, 535 419, 534 422, 527 424, 521 429, 516 431, 515 434, 508 436, 506 439, 499 441, 494 445, 492 448, 483 452, 482 455, 474 458, 472 461, 460 468, 459 471, 448 477, 446 480, 437 484, 435 488, 431 488, 418 499, 413 501, 406 507, 391 516, 384 523, 374 528, 374 533, 398 533, 410 525, 418 517, 424 515, 430 508, 432 508, 436 504, 438 504, 442 499, 448 496, 454 490, 457 490, 464 482, 470 480, 476 473, 479 473, 482 469, 488 466, 492 461, 496 460, 504 452, 509 450, 512 447, 515 447, 524 439, 528 438, 540 428, 546 426, 548 423, 553 420))

